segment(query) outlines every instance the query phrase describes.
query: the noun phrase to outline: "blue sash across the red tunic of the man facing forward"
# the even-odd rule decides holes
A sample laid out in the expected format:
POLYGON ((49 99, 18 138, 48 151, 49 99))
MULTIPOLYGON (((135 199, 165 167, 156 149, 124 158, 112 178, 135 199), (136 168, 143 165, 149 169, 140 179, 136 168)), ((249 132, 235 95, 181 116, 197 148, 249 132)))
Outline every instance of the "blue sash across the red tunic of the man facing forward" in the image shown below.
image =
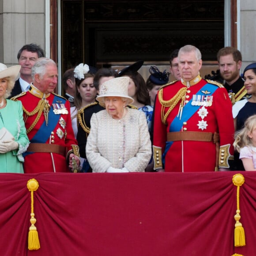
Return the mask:
MULTIPOLYGON (((196 93, 196 95, 205 95, 203 93, 203 91, 207 90, 208 92, 210 92, 209 94, 207 94, 207 96, 211 96, 212 94, 215 93, 215 90, 217 90, 217 89, 218 89, 218 86, 211 84, 211 83, 207 83, 196 93)), ((192 106, 191 105, 192 99, 193 98, 191 98, 190 101, 186 105, 184 105, 181 120, 180 120, 180 116, 175 117, 173 119, 173 122, 171 123, 171 125, 169 127, 169 132, 181 131, 183 123, 187 122, 189 120, 189 118, 192 117, 198 111, 198 109, 200 109, 201 106, 195 106, 195 105, 192 106)), ((166 141, 166 148, 162 155, 162 163, 163 164, 165 163, 166 154, 169 151, 172 144, 173 144, 173 141, 166 141)))

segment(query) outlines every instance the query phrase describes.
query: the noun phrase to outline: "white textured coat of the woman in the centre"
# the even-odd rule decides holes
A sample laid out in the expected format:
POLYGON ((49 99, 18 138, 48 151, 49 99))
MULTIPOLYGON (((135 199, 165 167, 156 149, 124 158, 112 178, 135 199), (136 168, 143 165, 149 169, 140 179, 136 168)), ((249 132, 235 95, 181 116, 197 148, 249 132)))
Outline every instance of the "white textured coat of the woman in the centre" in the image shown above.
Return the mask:
POLYGON ((127 109, 122 120, 113 119, 106 110, 90 120, 86 155, 93 172, 127 168, 143 172, 151 158, 151 141, 143 112, 127 109))

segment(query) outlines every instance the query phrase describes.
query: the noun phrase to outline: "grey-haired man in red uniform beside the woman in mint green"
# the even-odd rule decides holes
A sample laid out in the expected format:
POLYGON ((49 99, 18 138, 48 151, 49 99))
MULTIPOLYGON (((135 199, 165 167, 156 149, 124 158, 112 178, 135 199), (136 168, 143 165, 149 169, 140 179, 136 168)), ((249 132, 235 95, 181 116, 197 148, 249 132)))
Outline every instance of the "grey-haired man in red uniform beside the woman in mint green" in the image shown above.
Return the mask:
POLYGON ((56 63, 39 58, 32 68, 30 90, 12 98, 23 104, 30 145, 24 153, 24 173, 70 172, 79 166, 69 102, 53 91, 58 80, 56 63))

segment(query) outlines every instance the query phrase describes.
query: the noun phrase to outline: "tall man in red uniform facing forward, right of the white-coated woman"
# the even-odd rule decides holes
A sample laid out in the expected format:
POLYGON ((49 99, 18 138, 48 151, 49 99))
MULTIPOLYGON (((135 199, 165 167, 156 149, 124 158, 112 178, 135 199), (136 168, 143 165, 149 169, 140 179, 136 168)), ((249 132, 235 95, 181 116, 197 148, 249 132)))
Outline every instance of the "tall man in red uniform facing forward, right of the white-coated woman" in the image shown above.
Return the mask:
POLYGON ((179 51, 181 81, 158 91, 154 109, 154 169, 166 172, 228 170, 233 160, 232 103, 226 89, 203 80, 201 53, 179 51))

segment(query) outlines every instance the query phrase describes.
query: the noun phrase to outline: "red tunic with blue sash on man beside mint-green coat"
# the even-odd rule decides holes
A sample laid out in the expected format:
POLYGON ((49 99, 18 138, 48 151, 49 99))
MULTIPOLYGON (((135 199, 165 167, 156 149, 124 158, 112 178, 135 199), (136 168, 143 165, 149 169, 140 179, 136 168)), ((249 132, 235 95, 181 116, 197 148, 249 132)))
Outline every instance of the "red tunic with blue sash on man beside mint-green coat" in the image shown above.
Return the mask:
POLYGON ((30 146, 36 145, 34 149, 29 146, 24 154, 24 173, 70 172, 68 156, 70 153, 79 156, 79 148, 72 129, 69 102, 53 93, 44 94, 33 85, 14 100, 23 104, 30 146), (54 153, 45 152, 47 150, 54 153))

